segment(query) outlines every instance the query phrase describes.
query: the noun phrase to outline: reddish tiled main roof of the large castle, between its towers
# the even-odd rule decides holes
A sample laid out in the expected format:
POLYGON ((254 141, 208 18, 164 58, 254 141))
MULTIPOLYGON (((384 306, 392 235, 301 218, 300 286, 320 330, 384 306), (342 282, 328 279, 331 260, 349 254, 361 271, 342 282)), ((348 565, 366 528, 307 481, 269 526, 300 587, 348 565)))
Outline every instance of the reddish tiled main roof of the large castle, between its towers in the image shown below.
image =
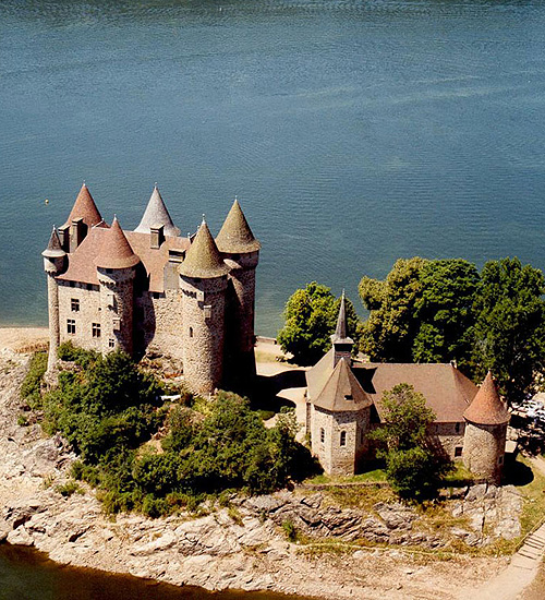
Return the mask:
MULTIPOLYGON (((80 247, 71 252, 66 272, 58 277, 64 281, 98 285, 95 260, 109 229, 93 227, 80 247)), ((167 237, 160 248, 150 248, 149 233, 123 231, 132 252, 138 256, 149 278, 149 291, 165 291, 164 268, 169 260, 169 250, 183 252, 190 245, 187 238, 167 237)))

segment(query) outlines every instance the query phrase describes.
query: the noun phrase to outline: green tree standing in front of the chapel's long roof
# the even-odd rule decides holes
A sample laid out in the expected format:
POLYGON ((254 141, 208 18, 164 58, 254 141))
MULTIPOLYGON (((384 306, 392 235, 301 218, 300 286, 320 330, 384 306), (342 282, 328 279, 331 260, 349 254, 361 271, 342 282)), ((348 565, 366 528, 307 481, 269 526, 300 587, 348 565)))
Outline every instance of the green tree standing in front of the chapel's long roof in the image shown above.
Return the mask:
POLYGON ((401 383, 382 398, 384 422, 372 434, 378 456, 386 461, 386 477, 403 499, 432 497, 452 464, 428 435, 434 411, 412 385, 401 383))

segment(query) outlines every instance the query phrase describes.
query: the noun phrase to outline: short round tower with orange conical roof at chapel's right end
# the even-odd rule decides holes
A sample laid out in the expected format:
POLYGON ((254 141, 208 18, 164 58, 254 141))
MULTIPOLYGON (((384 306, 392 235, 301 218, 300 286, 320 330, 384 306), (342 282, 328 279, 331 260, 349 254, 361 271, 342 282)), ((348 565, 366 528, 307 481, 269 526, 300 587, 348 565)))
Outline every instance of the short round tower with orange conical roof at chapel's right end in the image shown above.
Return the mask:
POLYGON ((463 413, 463 464, 470 471, 499 483, 504 467, 509 411, 488 371, 473 401, 463 413))

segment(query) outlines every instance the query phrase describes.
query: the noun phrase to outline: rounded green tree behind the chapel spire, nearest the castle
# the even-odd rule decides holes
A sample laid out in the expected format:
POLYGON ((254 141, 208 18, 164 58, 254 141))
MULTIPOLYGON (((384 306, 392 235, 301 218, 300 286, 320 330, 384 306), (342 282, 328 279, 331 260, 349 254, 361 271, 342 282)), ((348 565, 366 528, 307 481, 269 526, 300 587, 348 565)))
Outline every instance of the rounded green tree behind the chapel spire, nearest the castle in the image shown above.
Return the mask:
MULTIPOLYGON (((316 281, 295 290, 286 304, 286 324, 277 336, 282 350, 291 352, 298 364, 314 364, 331 347, 339 307, 340 299, 335 298, 330 288, 316 281)), ((358 347, 360 320, 348 299, 346 311, 348 335, 358 347)))

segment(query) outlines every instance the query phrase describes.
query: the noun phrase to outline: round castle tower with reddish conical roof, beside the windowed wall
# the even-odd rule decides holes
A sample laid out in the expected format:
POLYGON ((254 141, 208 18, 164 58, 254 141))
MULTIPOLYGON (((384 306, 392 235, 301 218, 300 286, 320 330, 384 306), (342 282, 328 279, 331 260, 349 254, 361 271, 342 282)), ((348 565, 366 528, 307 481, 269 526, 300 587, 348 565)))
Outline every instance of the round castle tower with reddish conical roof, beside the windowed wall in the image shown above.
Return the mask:
POLYGON ((118 348, 130 355, 133 351, 134 267, 138 263, 114 217, 95 259, 100 287, 102 352, 118 348))

